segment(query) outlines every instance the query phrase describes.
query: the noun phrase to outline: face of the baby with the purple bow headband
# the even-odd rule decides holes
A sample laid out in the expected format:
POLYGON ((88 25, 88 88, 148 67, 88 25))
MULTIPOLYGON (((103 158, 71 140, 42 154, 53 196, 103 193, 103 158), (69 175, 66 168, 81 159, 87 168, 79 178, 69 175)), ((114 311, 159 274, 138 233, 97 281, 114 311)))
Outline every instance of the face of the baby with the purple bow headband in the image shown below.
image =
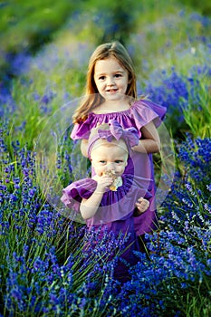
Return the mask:
POLYGON ((128 164, 128 149, 123 141, 108 143, 103 141, 91 149, 91 165, 96 175, 102 176, 104 172, 113 171, 116 177, 123 174, 128 164))

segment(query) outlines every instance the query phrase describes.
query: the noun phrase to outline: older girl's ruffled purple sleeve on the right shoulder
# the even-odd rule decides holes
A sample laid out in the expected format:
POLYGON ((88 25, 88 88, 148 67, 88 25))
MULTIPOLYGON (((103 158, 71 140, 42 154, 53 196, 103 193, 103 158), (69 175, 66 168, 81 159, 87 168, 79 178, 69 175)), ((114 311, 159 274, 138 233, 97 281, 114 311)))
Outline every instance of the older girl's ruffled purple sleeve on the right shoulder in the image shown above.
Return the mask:
POLYGON ((140 130, 149 122, 153 121, 155 126, 158 128, 162 120, 165 118, 166 111, 167 109, 165 107, 159 106, 147 99, 135 101, 131 107, 131 116, 134 120, 133 124, 138 130, 140 130))

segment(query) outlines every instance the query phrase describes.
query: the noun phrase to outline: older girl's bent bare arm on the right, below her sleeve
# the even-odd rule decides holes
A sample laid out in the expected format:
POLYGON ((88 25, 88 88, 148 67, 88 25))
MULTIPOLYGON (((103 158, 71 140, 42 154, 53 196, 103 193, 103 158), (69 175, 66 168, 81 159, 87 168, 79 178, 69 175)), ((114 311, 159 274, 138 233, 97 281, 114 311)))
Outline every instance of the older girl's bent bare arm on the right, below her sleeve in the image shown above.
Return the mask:
POLYGON ((160 139, 155 124, 151 121, 141 128, 143 139, 139 140, 139 144, 132 147, 140 153, 156 153, 160 149, 160 139))

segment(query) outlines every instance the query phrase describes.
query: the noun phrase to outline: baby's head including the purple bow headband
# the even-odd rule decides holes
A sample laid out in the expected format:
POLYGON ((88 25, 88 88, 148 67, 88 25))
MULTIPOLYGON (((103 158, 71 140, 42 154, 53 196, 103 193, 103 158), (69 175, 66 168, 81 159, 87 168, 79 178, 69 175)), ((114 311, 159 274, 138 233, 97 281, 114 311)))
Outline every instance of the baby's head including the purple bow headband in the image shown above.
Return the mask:
POLYGON ((96 175, 108 174, 113 179, 120 177, 128 164, 130 148, 138 143, 137 130, 124 130, 115 120, 92 129, 88 156, 96 175))

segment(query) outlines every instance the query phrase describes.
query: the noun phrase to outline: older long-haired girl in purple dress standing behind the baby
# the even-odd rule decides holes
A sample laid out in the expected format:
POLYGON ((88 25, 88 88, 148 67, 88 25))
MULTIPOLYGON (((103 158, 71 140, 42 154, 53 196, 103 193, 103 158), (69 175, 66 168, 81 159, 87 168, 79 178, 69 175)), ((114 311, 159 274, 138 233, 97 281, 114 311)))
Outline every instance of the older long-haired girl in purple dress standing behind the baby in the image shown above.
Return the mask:
POLYGON ((149 209, 144 216, 135 219, 136 234, 140 236, 157 227, 152 153, 160 148, 157 127, 165 113, 166 108, 147 99, 137 100, 133 64, 129 53, 119 42, 104 43, 96 48, 89 62, 86 97, 72 117, 74 127, 71 137, 82 139, 82 154, 87 157, 87 139, 91 129, 99 123, 113 119, 123 128, 139 130, 139 144, 132 148, 125 173, 151 178, 149 209))

